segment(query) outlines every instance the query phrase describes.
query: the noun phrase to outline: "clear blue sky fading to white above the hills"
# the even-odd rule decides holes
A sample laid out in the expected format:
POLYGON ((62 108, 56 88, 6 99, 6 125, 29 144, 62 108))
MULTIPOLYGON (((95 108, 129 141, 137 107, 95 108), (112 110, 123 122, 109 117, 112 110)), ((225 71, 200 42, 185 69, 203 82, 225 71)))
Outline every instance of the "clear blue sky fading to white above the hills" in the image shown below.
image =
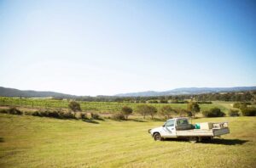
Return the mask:
POLYGON ((0 86, 77 95, 256 85, 255 1, 0 0, 0 86))

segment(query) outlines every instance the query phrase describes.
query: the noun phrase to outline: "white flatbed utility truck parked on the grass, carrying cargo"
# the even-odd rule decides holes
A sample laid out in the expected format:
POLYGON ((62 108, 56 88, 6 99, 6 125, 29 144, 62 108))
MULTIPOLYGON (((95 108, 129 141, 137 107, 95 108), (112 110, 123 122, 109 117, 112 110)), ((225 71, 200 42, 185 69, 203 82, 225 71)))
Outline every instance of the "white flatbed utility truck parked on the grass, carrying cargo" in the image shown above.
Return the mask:
POLYGON ((191 143, 201 142, 202 139, 211 140, 213 137, 230 133, 227 122, 204 122, 189 124, 189 119, 179 117, 166 120, 164 126, 149 129, 148 133, 155 141, 162 141, 165 138, 186 138, 191 143))

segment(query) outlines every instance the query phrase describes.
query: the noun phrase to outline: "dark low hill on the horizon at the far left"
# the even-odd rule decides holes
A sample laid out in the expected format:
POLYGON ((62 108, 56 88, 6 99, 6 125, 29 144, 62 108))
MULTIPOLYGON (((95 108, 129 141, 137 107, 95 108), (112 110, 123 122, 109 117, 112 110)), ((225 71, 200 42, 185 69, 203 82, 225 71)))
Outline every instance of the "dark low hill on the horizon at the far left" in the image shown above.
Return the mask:
POLYGON ((26 97, 26 98, 43 98, 43 97, 55 97, 55 98, 73 98, 74 95, 64 94, 61 92, 43 92, 43 91, 21 91, 15 88, 0 87, 0 96, 3 97, 26 97))

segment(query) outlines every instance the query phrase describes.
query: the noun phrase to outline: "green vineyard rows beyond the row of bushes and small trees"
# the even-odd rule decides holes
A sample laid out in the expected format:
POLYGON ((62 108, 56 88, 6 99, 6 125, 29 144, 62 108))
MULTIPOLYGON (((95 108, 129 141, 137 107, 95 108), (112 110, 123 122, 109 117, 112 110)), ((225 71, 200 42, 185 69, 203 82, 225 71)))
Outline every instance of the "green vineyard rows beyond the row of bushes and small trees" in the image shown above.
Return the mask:
MULTIPOLYGON (((122 107, 129 106, 132 109, 135 109, 138 104, 135 103, 115 103, 115 102, 84 102, 80 101, 79 104, 81 108, 86 110, 93 110, 99 113, 116 113, 119 112, 122 107)), ((200 104, 201 111, 211 109, 213 107, 218 107, 225 113, 232 108, 232 102, 213 102, 213 104, 200 104)), ((68 108, 67 100, 54 100, 54 99, 34 99, 34 98, 4 98, 0 97, 0 106, 17 106, 17 107, 27 107, 27 108, 68 108)), ((157 109, 160 109, 166 104, 151 104, 154 105, 157 109)), ((173 108, 186 109, 187 104, 169 104, 173 108)))

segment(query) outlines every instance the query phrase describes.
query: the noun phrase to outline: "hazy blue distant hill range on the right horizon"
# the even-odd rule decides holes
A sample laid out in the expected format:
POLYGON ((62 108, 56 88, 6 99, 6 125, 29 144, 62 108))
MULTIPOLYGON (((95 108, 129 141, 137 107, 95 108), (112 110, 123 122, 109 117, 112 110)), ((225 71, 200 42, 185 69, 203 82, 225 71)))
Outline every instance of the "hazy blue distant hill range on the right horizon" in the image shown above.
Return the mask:
POLYGON ((168 96, 168 95, 182 95, 182 94, 202 94, 210 92, 242 92, 253 91, 256 87, 183 87, 176 88, 164 92, 129 92, 120 93, 115 96, 118 97, 149 97, 149 96, 168 96))

